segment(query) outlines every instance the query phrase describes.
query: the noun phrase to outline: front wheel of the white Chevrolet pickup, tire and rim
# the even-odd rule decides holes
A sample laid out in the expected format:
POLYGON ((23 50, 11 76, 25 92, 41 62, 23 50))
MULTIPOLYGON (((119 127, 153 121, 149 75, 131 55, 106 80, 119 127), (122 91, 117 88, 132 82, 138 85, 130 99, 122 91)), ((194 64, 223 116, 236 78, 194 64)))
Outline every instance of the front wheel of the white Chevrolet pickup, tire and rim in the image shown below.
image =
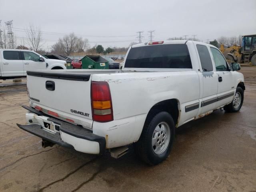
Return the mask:
POLYGON ((233 101, 224 106, 226 112, 238 112, 244 102, 244 90, 241 87, 236 88, 236 94, 234 95, 233 101))

